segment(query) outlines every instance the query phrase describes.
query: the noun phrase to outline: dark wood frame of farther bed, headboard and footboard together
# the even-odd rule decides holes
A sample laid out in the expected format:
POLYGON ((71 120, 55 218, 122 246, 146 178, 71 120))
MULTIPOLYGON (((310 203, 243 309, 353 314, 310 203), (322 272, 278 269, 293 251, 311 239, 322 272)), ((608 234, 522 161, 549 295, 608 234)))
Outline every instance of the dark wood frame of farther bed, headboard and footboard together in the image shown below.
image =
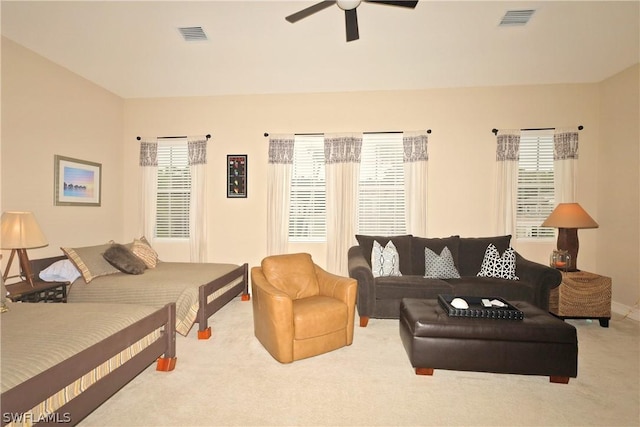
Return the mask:
MULTIPOLYGON (((66 258, 66 256, 61 255, 29 261, 31 264, 31 271, 35 277, 38 277, 40 271, 44 270, 54 262, 66 258)), ((212 280, 207 284, 200 285, 200 288, 198 289, 198 314, 196 316, 196 322, 198 322, 198 339, 206 340, 211 337, 211 326, 208 324, 209 317, 224 307, 240 293, 242 293, 242 301, 249 301, 251 299, 251 296, 249 295, 249 264, 247 263, 238 266, 238 268, 212 280), (209 295, 225 287, 228 283, 239 277, 242 277, 242 281, 229 288, 224 294, 220 295, 210 303, 207 302, 209 295)), ((144 302, 141 301, 140 304, 144 305, 144 302)))

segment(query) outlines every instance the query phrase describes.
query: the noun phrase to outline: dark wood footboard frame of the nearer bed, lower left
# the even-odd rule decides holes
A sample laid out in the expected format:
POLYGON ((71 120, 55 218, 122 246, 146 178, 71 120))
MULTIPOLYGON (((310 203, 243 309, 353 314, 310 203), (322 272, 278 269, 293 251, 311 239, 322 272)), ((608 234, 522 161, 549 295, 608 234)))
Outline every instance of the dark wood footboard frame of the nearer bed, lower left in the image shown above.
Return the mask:
POLYGON ((44 414, 42 422, 38 424, 79 423, 154 361, 156 370, 172 371, 176 364, 175 303, 167 304, 101 342, 2 393, 2 425, 12 421, 24 421, 24 414, 33 407, 161 327, 164 328, 160 339, 100 378, 78 396, 56 409, 53 414, 44 414))

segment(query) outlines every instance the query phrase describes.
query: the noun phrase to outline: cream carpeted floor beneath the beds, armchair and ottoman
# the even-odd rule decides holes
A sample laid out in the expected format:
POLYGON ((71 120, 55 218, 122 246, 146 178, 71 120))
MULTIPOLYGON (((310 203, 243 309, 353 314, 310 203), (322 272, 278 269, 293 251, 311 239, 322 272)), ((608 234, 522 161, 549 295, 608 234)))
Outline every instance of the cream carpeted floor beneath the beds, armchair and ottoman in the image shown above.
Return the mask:
MULTIPOLYGON (((638 426, 640 323, 578 330, 578 377, 436 370, 415 375, 397 320, 356 326, 353 345, 288 365, 253 335, 251 302, 216 313, 213 336, 178 335, 176 369, 155 366, 81 426, 638 426)), ((356 317, 357 324, 357 317, 356 317)))

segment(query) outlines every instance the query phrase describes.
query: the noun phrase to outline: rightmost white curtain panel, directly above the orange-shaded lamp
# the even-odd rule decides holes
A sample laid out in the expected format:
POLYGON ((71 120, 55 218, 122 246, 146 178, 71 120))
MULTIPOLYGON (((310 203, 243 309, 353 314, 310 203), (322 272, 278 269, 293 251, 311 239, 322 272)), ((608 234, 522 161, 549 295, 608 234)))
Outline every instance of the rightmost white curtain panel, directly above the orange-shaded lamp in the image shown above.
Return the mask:
POLYGON ((578 132, 556 129, 553 134, 553 174, 556 204, 576 201, 578 132))

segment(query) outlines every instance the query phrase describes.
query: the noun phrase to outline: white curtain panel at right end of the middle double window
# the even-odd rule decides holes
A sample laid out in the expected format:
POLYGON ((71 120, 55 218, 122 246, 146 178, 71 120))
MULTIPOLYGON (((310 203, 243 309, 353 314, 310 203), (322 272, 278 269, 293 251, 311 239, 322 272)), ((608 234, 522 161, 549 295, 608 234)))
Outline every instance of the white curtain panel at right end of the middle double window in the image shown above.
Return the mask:
POLYGON ((429 138, 426 131, 403 132, 402 142, 407 233, 426 236, 429 138))

